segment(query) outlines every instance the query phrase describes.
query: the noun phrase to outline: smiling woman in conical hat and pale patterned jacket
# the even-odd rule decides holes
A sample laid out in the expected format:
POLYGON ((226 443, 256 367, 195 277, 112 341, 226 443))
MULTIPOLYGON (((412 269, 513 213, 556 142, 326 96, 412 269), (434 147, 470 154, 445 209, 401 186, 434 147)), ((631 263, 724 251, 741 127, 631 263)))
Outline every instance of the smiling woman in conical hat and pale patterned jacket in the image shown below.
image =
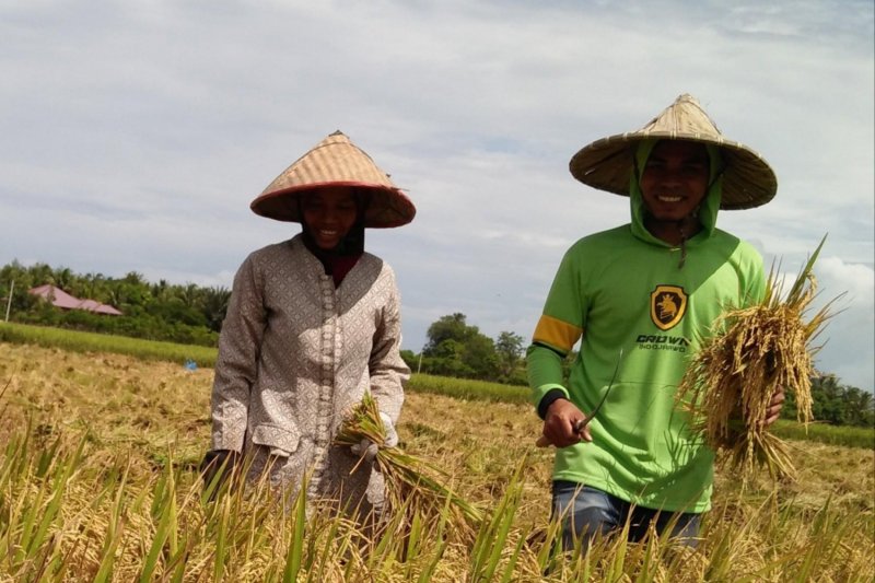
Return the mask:
POLYGON ((250 457, 294 494, 312 469, 308 499, 369 512, 382 501, 360 452, 334 447, 366 390, 392 441, 410 371, 400 358, 400 301, 392 268, 364 253, 365 228, 407 224, 416 209, 345 135, 328 136, 252 203, 257 214, 301 222, 302 233, 249 255, 219 340, 212 390, 212 473, 250 457), (365 467, 366 466, 366 467, 365 467), (365 495, 366 494, 366 495, 365 495))

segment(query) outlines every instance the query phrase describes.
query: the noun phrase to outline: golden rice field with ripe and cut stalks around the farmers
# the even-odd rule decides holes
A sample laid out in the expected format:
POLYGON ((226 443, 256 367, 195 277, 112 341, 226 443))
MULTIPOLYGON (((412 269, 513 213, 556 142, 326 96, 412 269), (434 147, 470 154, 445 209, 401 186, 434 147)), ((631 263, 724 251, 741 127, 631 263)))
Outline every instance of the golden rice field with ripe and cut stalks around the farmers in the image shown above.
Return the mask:
POLYGON ((401 447, 483 520, 374 532, 266 488, 206 500, 211 382, 179 361, 0 341, 0 582, 875 579, 872 448, 793 440, 796 481, 743 491, 719 474, 696 551, 653 537, 564 557, 525 403, 409 392, 401 447))

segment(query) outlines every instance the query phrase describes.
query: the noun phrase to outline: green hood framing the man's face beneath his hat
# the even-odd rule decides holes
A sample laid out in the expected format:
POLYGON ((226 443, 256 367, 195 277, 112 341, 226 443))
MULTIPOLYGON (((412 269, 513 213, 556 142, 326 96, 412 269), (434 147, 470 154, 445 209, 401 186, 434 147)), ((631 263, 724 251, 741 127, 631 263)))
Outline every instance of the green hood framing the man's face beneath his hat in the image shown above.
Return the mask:
MULTIPOLYGON (((668 243, 653 236, 644 226, 644 213, 646 210, 644 209, 644 197, 641 195, 641 174, 644 172, 653 147, 656 145, 658 141, 658 139, 641 140, 638 145, 638 151, 635 152, 635 165, 632 177, 629 180, 632 234, 648 243, 670 247, 668 243)), ((719 147, 711 143, 704 143, 704 147, 708 150, 708 156, 711 161, 711 179, 709 180, 711 186, 709 186, 708 194, 699 205, 697 212, 699 221, 702 223, 702 230, 686 242, 688 246, 698 245, 700 242, 710 237, 718 224, 718 210, 720 209, 720 198, 723 189, 723 158, 720 155, 719 147)))

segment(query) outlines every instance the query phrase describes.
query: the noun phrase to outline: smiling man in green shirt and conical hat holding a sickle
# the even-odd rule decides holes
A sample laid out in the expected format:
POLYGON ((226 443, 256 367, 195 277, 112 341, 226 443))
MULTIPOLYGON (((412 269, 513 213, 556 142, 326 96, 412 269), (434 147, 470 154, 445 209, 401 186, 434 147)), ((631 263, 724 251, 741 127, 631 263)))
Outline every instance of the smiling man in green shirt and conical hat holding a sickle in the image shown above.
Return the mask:
MULTIPOLYGON (((627 521, 632 540, 653 524, 695 545, 713 452, 675 393, 715 318, 765 292, 762 258, 716 229, 718 209, 763 205, 777 179, 689 95, 638 131, 583 148, 570 167, 588 186, 628 196, 632 220, 565 253, 527 352, 542 442, 557 447, 563 546, 583 537, 585 549, 627 521), (565 386, 561 363, 579 340, 565 386)), ((767 423, 782 401, 780 390, 767 423)))

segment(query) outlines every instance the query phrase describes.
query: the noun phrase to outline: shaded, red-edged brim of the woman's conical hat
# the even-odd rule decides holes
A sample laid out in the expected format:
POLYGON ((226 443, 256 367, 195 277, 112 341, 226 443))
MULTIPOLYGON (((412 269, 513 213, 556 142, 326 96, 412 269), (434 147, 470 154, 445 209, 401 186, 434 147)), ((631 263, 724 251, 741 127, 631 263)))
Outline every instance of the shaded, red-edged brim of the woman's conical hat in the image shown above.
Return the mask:
POLYGON ((349 186, 369 195, 364 213, 364 226, 370 229, 390 229, 401 226, 413 220, 417 210, 409 198, 398 188, 352 180, 311 183, 280 190, 262 193, 253 200, 249 208, 256 214, 285 222, 301 222, 296 199, 314 190, 328 187, 349 186))

